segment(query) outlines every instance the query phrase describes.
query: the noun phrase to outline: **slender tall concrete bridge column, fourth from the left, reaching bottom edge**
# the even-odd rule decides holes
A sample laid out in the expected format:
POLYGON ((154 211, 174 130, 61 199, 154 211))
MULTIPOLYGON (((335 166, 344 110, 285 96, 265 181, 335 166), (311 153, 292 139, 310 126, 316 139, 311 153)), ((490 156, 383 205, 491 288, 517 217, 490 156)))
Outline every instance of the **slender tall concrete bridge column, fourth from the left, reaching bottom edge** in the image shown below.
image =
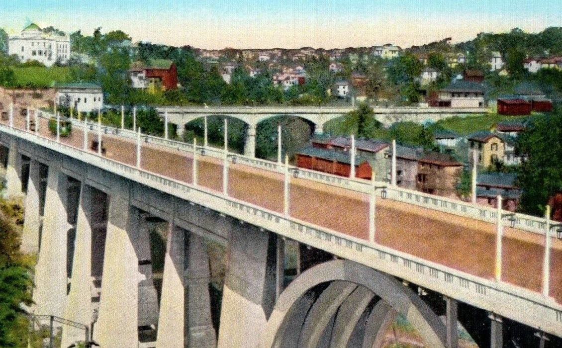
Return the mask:
MULTIPOLYGON (((72 261, 72 279, 69 300, 64 318, 90 326, 92 323, 92 210, 95 201, 93 188, 81 185, 78 220, 76 222, 76 239, 74 244, 74 261, 72 261)), ((84 340, 84 330, 65 326, 62 330, 61 347, 68 347, 76 341, 84 340)))

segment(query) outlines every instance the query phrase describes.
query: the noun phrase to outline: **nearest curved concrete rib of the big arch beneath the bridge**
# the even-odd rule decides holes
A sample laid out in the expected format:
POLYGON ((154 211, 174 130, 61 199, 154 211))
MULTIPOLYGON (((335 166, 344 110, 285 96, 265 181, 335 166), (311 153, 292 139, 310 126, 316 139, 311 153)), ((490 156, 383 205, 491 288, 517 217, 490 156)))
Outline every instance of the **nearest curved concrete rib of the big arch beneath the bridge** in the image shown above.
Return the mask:
POLYGON ((395 278, 349 260, 334 260, 302 273, 283 291, 266 324, 262 347, 274 347, 285 335, 293 304, 312 287, 326 282, 344 281, 364 286, 380 296, 392 309, 402 313, 431 347, 445 347, 445 324, 422 299, 395 278))

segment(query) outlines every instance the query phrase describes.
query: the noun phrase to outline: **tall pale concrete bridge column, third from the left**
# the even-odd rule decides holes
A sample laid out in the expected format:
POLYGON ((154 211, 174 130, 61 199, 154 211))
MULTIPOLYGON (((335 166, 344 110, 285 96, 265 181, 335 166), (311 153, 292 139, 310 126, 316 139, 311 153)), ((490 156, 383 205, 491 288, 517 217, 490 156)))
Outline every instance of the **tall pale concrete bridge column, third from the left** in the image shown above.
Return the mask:
POLYGON ((35 313, 64 317, 67 295, 68 179, 60 163, 49 165, 41 252, 35 266, 35 313))

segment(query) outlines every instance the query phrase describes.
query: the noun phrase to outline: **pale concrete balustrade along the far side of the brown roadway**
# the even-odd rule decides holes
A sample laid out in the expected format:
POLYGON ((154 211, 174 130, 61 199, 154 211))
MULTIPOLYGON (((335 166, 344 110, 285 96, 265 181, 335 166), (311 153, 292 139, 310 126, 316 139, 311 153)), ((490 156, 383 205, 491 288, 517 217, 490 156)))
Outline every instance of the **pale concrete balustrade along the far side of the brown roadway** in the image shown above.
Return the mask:
MULTIPOLYGON (((52 117, 53 114, 48 112, 40 111, 42 114, 40 116, 52 117)), ((76 126, 83 126, 83 121, 78 121, 77 119, 71 119, 72 124, 76 126)), ((95 130, 97 124, 90 123, 90 129, 95 130)), ((102 132, 104 134, 114 134, 121 137, 129 139, 137 139, 137 133, 130 129, 120 129, 112 126, 102 126, 102 132)), ((186 152, 193 152, 193 144, 185 143, 180 141, 174 141, 162 137, 155 137, 153 135, 142 134, 141 138, 145 143, 155 144, 158 146, 165 146, 169 148, 175 148, 178 150, 183 150, 186 152)), ((224 151, 220 148, 215 147, 197 147, 198 153, 201 150, 205 150, 205 156, 211 156, 217 159, 224 158, 224 151)), ((257 159, 255 157, 244 156, 238 153, 230 153, 230 155, 236 156, 236 161, 239 164, 244 164, 257 169, 263 169, 268 171, 274 171, 275 173, 283 173, 284 164, 279 164, 278 162, 257 159)), ((320 171, 309 170, 291 166, 291 171, 296 173, 298 178, 309 179, 315 182, 320 182, 328 184, 330 186, 341 187, 345 189, 350 189, 352 191, 361 193, 370 193, 373 190, 373 183, 369 180, 363 179, 351 179, 347 177, 341 177, 339 175, 333 175, 328 173, 323 173, 320 171)), ((380 182, 376 183, 376 186, 387 186, 387 198, 395 201, 404 202, 407 204, 413 204, 416 206, 424 207, 426 209, 438 210, 443 213, 450 213, 458 216, 464 216, 466 218, 472 218, 476 220, 481 220, 488 223, 497 222, 497 211, 493 207, 487 207, 482 205, 473 205, 470 202, 464 202, 461 200, 455 200, 452 198, 441 197, 431 195, 429 193, 423 193, 419 191, 414 191, 406 188, 392 187, 388 183, 380 182)), ((522 231, 528 231, 538 234, 545 234, 546 219, 515 213, 513 227, 515 229, 520 229, 522 231)))

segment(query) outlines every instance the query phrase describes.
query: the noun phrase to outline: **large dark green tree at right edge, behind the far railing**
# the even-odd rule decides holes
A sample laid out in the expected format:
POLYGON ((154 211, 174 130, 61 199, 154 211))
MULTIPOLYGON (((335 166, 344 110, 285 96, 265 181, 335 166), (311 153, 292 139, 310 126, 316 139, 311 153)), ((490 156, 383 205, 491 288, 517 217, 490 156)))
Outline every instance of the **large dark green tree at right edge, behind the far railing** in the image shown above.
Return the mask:
POLYGON ((562 114, 533 117, 527 130, 519 135, 517 151, 528 157, 518 176, 523 190, 520 209, 524 213, 542 215, 546 202, 562 190, 562 114))

